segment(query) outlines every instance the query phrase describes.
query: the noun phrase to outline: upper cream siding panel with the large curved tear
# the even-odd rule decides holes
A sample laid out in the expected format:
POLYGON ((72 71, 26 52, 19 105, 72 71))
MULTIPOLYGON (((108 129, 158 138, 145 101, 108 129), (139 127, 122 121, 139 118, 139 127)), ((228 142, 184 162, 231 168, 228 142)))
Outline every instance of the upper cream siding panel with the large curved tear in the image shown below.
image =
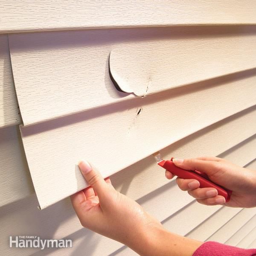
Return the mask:
POLYGON ((134 98, 111 82, 110 52, 116 79, 140 95, 248 69, 231 79, 255 83, 256 26, 23 33, 9 45, 24 125, 134 98))

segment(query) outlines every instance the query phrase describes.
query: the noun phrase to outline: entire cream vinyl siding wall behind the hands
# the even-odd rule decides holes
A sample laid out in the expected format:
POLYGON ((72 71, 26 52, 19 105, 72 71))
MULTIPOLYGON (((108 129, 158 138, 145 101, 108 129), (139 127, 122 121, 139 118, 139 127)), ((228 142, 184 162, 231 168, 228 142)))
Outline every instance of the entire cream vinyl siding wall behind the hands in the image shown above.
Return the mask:
POLYGON ((81 227, 67 198, 87 186, 81 159, 171 232, 255 247, 255 209, 198 204, 151 156, 212 155, 256 170, 255 5, 3 1, 1 254, 137 255, 81 227), (110 52, 113 76, 134 93, 113 86, 110 52), (73 248, 9 248, 15 235, 73 248))

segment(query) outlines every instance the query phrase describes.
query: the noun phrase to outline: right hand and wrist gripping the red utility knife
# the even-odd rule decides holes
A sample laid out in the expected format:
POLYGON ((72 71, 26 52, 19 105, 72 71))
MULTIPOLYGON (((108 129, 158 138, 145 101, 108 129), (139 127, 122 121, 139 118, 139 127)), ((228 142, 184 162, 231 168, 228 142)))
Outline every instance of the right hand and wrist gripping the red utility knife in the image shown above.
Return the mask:
MULTIPOLYGON (((201 204, 224 204, 230 207, 256 206, 256 171, 249 170, 218 157, 198 157, 192 159, 174 158, 176 166, 186 170, 197 170, 208 175, 214 183, 232 190, 230 201, 218 195, 214 188, 199 188, 200 183, 193 179, 177 178, 177 184, 183 191, 196 198, 201 204)), ((172 179, 171 172, 166 177, 172 179)))

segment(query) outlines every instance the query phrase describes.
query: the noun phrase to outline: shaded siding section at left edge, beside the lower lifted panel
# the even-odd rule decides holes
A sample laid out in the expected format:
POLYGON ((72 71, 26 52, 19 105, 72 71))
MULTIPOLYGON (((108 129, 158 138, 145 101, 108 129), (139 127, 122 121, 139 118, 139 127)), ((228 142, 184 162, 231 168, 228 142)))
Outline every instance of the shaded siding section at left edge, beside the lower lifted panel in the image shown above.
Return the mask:
POLYGON ((0 129, 0 206, 34 192, 19 128, 0 129))

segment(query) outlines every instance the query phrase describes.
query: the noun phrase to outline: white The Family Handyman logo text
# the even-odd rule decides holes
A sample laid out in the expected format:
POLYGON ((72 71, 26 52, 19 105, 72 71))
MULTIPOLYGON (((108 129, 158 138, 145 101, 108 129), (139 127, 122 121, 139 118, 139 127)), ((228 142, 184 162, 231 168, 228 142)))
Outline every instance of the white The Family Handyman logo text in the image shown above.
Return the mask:
POLYGON ((15 248, 69 248, 70 239, 40 239, 40 236, 10 236, 10 247, 15 248))

